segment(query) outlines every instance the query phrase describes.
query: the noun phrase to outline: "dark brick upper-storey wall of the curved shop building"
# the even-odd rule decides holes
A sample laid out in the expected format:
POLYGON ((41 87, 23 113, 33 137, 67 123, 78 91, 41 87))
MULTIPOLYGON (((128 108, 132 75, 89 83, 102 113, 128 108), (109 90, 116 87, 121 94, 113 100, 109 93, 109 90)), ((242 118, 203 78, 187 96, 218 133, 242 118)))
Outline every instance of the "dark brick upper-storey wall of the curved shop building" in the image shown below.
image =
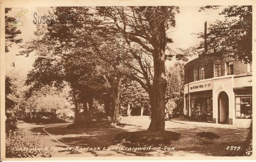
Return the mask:
POLYGON ((184 66, 185 84, 194 81, 194 70, 198 69, 198 80, 200 79, 200 68, 204 67, 204 78, 214 77, 214 64, 221 64, 221 76, 226 74, 226 62, 233 61, 234 75, 247 74, 247 64, 244 61, 233 60, 228 57, 203 56, 188 62, 184 66))

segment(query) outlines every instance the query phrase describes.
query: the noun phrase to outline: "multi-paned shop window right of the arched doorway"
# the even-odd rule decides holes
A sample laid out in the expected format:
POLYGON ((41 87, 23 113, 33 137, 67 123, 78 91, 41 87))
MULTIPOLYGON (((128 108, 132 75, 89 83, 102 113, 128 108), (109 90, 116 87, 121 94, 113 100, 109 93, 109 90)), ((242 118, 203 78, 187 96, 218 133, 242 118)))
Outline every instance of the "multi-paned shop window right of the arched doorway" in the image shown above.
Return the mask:
POLYGON ((252 118, 252 96, 236 97, 236 118, 252 118))

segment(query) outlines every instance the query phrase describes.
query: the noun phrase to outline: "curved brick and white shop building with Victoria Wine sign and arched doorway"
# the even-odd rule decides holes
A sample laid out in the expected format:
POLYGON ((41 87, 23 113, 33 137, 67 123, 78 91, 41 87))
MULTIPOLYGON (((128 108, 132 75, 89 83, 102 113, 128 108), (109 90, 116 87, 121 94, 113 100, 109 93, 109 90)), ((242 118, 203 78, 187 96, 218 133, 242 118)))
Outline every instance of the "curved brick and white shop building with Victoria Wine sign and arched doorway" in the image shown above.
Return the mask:
POLYGON ((184 67, 184 117, 230 125, 252 119, 252 63, 204 56, 184 67))

